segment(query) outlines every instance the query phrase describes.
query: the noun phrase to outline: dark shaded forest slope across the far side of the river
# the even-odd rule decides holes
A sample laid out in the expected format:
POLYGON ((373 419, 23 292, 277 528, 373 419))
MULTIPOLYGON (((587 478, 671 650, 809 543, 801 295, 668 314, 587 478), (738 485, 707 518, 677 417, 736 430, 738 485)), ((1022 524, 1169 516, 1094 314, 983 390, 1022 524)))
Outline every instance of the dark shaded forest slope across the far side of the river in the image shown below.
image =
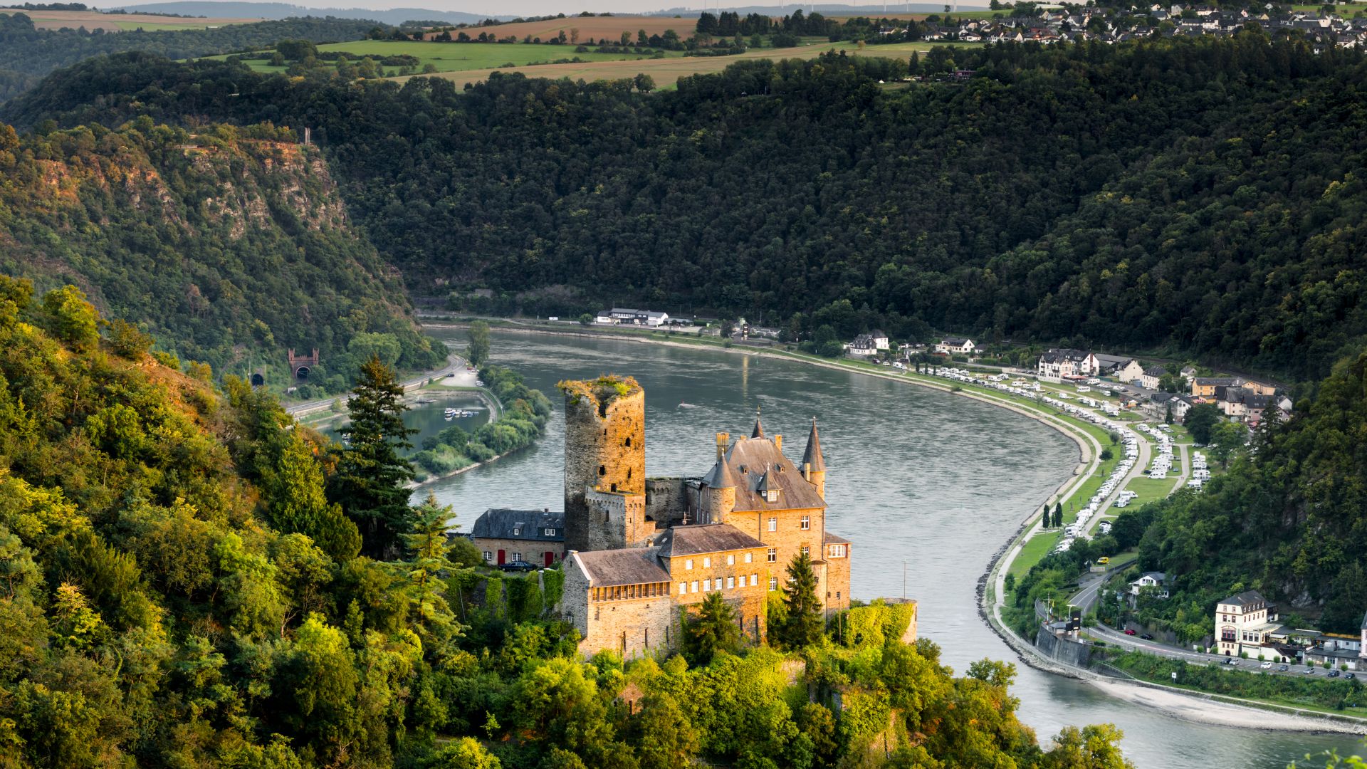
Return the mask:
POLYGON ((748 62, 641 94, 495 75, 463 93, 141 55, 52 75, 22 126, 310 126, 420 293, 526 312, 744 313, 793 335, 931 328, 1174 349, 1319 378, 1367 331, 1367 64, 1301 40, 748 62))

